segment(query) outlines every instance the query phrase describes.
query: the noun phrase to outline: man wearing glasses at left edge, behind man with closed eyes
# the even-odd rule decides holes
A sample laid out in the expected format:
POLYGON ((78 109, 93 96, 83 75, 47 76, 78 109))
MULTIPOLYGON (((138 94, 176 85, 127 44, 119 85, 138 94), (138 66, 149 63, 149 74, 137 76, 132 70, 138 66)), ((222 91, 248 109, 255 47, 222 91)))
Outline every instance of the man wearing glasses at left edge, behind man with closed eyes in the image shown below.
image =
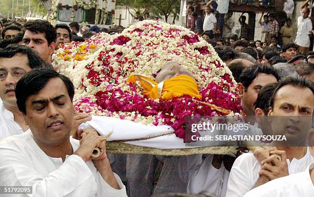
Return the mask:
POLYGON ((0 49, 0 139, 28 130, 16 105, 15 85, 28 71, 41 67, 52 68, 26 46, 0 49))

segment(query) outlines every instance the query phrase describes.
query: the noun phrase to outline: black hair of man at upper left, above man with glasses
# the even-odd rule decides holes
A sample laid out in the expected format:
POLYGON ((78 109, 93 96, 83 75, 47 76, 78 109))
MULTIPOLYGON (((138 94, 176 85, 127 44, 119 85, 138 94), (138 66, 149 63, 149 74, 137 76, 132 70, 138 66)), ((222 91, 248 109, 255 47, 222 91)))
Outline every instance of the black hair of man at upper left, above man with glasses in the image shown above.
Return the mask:
POLYGON ((56 31, 48 21, 45 20, 28 21, 24 27, 25 31, 29 30, 31 32, 36 33, 45 33, 45 38, 48 42, 48 45, 56 41, 56 31))

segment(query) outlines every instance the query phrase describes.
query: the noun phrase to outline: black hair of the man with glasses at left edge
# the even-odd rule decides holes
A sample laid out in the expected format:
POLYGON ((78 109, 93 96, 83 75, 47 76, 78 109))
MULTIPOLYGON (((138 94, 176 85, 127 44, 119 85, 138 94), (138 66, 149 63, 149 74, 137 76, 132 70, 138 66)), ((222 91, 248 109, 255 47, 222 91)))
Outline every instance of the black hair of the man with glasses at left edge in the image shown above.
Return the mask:
POLYGON ((21 53, 27 56, 28 66, 30 68, 50 68, 53 67, 50 65, 47 67, 47 64, 44 63, 42 58, 37 55, 37 53, 31 48, 24 45, 10 44, 6 48, 0 49, 0 58, 12 58, 17 53, 21 53))

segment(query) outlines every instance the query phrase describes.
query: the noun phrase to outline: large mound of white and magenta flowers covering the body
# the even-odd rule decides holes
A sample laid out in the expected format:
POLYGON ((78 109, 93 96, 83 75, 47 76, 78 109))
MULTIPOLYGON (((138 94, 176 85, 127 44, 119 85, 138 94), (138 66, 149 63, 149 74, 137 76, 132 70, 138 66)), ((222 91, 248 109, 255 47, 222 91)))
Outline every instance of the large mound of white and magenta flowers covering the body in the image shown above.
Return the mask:
POLYGON ((55 63, 72 79, 74 105, 80 112, 168 124, 181 138, 186 116, 226 115, 219 109, 230 111, 229 115, 240 112, 236 82, 228 67, 210 44, 181 26, 147 20, 120 34, 97 34, 81 44, 62 46, 55 63), (202 101, 190 96, 152 100, 138 85, 126 83, 130 74, 154 79, 167 61, 192 72, 202 101))

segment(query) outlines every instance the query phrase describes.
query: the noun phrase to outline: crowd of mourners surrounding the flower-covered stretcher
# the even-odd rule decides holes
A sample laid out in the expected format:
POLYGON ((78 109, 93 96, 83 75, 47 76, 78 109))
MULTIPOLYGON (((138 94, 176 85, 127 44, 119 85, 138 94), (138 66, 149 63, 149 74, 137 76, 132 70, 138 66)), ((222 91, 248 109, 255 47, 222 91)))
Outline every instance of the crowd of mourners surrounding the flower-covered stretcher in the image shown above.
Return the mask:
MULTIPOLYGON (((264 15, 261 25, 269 26, 265 27, 267 39, 262 42, 247 40, 244 15, 239 19, 240 39, 232 34, 232 12, 219 7, 222 4, 217 1, 215 10, 219 13, 215 16, 213 2, 206 6, 204 19, 201 12, 188 7, 187 28, 203 31, 202 37, 231 70, 238 83, 242 114, 254 117, 253 123, 259 123, 263 116, 311 117, 314 52, 309 51, 309 39, 302 40, 311 31, 307 29, 311 23, 307 20, 309 9, 301 8, 296 43, 292 42, 291 19, 279 28, 273 14, 264 15), (222 37, 215 38, 217 34, 222 37)), ((284 133, 291 122, 297 126, 289 131, 302 125, 309 133, 307 147, 271 144, 254 152, 239 152, 237 158, 106 154, 103 138, 95 130, 78 130, 91 117, 74 113, 73 84, 53 70, 52 59, 60 44, 115 31, 80 27, 75 22, 53 27, 43 20, 7 19, 1 20, 0 28, 0 186, 32 186, 38 196, 314 194, 314 131, 298 118, 274 122, 271 134, 284 133), (91 160, 95 147, 101 149, 101 156, 91 160), (282 160, 276 160, 274 154, 281 155, 282 160), (160 169, 157 183, 156 169, 160 169)), ((182 74, 181 69, 170 71, 172 76, 182 74)))

